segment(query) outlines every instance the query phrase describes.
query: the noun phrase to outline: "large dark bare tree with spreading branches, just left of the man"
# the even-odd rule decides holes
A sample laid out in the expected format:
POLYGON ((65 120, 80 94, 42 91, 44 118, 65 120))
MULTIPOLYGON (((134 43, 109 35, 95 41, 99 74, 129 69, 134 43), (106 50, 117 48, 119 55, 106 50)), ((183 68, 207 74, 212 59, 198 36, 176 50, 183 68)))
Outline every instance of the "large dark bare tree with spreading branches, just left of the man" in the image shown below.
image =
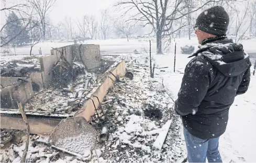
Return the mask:
MULTIPOLYGON (((121 10, 125 10, 124 15, 133 13, 131 20, 142 21, 144 25, 150 24, 157 36, 157 53, 162 54, 162 39, 164 36, 170 35, 179 31, 184 27, 178 26, 174 29, 174 21, 203 8, 210 2, 219 2, 222 0, 210 0, 202 5, 195 5, 191 11, 186 11, 184 0, 124 0, 117 3, 115 6, 121 6, 121 10)), ((199 2, 198 2, 199 3, 199 2)), ((152 31, 152 32, 153 32, 152 31)))

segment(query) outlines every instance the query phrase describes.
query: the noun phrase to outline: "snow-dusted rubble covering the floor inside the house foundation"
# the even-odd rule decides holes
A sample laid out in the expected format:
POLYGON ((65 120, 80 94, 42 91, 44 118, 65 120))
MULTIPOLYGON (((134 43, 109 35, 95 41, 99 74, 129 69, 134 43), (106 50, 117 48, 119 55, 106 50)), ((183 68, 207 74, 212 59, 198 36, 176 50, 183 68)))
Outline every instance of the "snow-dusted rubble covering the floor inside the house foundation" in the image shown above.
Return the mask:
MULTIPOLYGON (((77 77, 72 84, 69 84, 69 87, 63 89, 50 87, 39 92, 35 91, 34 98, 31 98, 24 108, 31 112, 45 111, 46 115, 72 115, 78 110, 82 99, 93 89, 95 80, 96 74, 86 73, 77 77)), ((1 108, 1 110, 9 109, 1 108)))

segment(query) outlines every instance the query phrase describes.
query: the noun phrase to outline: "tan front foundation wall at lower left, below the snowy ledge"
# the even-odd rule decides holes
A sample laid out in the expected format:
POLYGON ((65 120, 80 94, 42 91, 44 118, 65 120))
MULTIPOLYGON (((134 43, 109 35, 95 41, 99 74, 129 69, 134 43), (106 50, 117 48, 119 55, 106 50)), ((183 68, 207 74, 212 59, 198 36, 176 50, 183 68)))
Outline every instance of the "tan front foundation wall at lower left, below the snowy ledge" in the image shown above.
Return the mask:
MULTIPOLYGON (((39 135, 50 135, 60 123, 60 121, 66 116, 44 116, 44 115, 31 115, 27 114, 30 133, 39 135)), ((26 129, 26 123, 23 121, 21 114, 19 113, 6 113, 1 111, 1 129, 26 129)))

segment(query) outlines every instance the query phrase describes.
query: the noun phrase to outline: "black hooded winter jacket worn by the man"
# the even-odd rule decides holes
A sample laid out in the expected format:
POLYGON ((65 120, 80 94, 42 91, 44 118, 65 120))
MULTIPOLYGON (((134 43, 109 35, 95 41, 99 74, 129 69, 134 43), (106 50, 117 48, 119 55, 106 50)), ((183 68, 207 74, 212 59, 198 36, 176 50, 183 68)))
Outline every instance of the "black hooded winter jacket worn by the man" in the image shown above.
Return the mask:
POLYGON ((248 90, 251 62, 241 44, 226 37, 204 41, 186 66, 175 111, 192 135, 207 140, 227 127, 236 95, 248 90))

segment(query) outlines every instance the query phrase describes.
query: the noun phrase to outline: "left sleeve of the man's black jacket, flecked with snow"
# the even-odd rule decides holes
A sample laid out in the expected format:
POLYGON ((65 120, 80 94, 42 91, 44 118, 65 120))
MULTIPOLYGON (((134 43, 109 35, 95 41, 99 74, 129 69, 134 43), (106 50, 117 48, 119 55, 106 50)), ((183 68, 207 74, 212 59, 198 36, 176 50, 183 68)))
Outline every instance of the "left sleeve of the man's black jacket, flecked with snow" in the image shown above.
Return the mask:
POLYGON ((209 86, 209 62, 198 56, 186 66, 181 89, 175 101, 175 111, 181 116, 195 114, 209 86))

